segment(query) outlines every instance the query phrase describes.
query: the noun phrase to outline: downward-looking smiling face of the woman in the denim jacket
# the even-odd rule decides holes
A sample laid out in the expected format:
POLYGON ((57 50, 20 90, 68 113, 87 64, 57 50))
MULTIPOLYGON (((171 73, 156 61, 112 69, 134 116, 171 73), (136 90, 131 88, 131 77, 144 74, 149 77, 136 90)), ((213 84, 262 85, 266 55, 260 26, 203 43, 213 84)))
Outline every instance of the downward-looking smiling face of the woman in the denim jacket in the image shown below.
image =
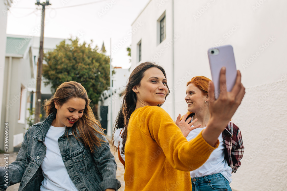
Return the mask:
POLYGON ((82 116, 86 106, 86 101, 82 98, 71 98, 62 106, 55 102, 57 115, 52 125, 54 127, 72 127, 82 116))

